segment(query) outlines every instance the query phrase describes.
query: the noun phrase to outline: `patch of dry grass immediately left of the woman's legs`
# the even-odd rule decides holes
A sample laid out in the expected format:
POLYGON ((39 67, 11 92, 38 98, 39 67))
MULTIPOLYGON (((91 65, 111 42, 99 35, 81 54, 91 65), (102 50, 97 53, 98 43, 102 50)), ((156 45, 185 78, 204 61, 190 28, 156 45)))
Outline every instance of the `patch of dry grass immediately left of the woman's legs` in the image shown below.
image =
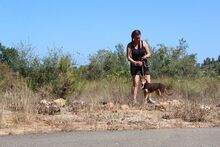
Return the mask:
POLYGON ((127 79, 90 81, 86 83, 84 91, 78 96, 79 99, 94 104, 102 101, 122 104, 127 103, 129 97, 131 97, 131 82, 127 79))

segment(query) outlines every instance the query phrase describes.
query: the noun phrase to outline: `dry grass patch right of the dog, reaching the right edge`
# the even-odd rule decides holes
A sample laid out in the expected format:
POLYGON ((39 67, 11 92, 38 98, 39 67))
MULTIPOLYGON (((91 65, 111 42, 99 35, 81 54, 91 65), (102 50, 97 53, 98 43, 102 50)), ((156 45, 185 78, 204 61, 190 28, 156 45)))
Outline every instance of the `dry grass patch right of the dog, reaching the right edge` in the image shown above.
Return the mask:
POLYGON ((174 92, 171 99, 188 100, 206 104, 220 103, 220 81, 215 78, 158 79, 174 92))

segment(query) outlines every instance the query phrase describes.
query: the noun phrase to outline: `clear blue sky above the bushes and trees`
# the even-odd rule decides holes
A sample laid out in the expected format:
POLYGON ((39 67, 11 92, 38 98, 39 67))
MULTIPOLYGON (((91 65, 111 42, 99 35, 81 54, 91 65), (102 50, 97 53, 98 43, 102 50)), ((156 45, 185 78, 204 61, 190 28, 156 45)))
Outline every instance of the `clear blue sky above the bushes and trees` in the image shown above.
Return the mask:
POLYGON ((152 46, 177 46, 184 38, 198 61, 220 55, 219 0, 0 0, 0 42, 32 44, 44 56, 61 48, 78 64, 118 43, 133 29, 152 46))

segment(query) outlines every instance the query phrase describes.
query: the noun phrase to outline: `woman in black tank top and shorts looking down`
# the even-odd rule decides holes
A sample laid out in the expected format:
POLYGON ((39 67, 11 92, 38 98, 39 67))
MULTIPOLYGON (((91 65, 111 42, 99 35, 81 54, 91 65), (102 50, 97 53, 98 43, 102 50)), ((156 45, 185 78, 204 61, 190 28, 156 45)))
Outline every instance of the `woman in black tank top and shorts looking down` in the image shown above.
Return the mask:
MULTIPOLYGON (((130 61, 130 72, 133 81, 133 101, 137 103, 137 92, 138 84, 140 81, 140 75, 145 76, 147 81, 150 83, 150 71, 148 67, 148 58, 150 58, 151 53, 148 44, 141 40, 141 31, 134 30, 131 34, 131 42, 127 46, 127 58, 130 61)), ((154 103, 150 98, 147 98, 148 103, 154 103)))

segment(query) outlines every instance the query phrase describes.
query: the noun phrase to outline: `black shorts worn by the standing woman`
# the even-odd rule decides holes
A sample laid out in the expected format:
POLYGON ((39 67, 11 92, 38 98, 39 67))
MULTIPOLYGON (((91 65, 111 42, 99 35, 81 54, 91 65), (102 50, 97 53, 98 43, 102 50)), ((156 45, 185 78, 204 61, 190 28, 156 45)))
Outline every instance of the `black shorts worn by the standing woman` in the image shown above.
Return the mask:
POLYGON ((130 64, 130 72, 131 75, 150 75, 150 68, 149 65, 144 66, 135 66, 134 64, 130 64))

